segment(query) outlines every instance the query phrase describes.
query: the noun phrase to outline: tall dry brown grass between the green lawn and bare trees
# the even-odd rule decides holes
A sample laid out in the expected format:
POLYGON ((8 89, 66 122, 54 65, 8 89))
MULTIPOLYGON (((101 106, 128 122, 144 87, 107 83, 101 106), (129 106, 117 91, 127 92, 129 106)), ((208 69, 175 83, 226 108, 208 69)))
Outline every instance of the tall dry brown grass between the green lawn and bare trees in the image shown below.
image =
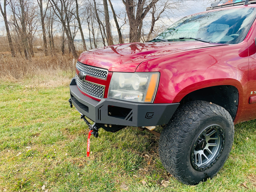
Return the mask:
POLYGON ((11 57, 10 52, 0 52, 0 78, 5 82, 25 83, 28 88, 68 85, 75 75, 76 60, 70 55, 55 53, 35 56, 25 60, 18 55, 11 57))

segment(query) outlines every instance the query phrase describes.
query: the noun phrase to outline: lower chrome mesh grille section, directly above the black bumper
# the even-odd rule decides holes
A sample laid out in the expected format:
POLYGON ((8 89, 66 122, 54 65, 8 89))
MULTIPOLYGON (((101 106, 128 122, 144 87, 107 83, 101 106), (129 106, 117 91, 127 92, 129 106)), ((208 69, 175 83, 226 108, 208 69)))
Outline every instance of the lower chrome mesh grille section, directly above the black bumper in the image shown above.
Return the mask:
POLYGON ((96 97, 98 99, 102 99, 104 96, 105 86, 98 85, 89 81, 83 81, 79 79, 78 75, 76 74, 76 82, 77 86, 81 91, 84 93, 96 97))

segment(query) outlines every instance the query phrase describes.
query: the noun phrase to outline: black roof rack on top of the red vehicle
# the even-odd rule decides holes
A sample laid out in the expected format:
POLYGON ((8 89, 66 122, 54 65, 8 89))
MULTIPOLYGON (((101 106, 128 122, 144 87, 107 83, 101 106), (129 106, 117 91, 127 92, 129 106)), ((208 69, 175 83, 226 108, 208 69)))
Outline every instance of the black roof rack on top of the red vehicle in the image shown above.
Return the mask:
POLYGON ((256 0, 229 0, 229 1, 218 1, 211 4, 211 7, 207 7, 206 10, 218 9, 221 7, 229 7, 235 5, 249 5, 256 3, 256 0))

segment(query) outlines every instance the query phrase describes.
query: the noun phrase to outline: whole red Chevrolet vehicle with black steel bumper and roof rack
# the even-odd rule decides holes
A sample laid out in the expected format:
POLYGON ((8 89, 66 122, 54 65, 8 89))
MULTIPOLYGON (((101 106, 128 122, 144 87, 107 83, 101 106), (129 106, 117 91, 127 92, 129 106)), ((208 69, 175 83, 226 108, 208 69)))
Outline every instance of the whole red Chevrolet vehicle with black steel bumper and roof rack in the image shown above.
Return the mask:
POLYGON ((234 124, 256 118, 253 3, 219 1, 149 42, 81 53, 70 106, 96 137, 99 128, 126 126, 159 135, 161 162, 179 181, 212 178, 228 158, 234 124))

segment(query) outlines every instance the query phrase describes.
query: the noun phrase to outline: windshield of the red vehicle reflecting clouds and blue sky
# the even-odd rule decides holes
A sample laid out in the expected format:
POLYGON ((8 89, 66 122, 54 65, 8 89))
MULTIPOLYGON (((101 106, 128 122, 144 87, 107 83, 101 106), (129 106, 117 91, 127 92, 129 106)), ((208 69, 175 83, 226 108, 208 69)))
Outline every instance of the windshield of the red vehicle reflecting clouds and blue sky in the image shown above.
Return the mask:
POLYGON ((153 41, 193 40, 236 44, 244 40, 255 17, 254 7, 215 10, 184 17, 157 35, 153 41))

